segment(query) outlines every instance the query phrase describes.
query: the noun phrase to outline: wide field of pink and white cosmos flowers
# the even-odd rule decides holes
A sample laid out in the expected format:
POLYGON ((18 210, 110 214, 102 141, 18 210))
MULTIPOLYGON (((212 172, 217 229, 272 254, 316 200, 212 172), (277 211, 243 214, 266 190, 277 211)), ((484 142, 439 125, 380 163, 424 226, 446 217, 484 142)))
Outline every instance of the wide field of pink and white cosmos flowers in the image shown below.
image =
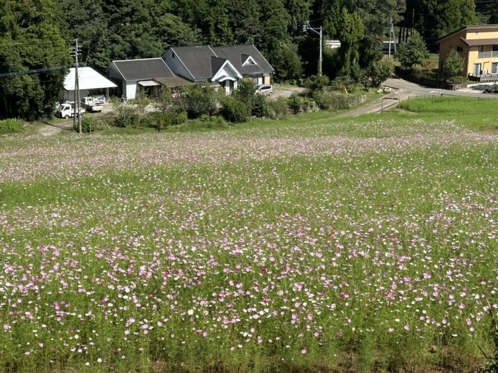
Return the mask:
POLYGON ((463 372, 492 350, 495 133, 0 141, 1 372, 463 372))

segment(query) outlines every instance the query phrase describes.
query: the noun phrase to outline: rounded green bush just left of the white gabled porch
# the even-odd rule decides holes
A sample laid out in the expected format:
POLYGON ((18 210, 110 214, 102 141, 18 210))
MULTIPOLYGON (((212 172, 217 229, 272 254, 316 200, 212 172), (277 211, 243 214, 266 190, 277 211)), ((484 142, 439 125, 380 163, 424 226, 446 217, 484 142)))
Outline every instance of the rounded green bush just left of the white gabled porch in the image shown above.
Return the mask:
POLYGON ((213 115, 219 94, 208 83, 191 84, 183 88, 182 94, 176 98, 181 111, 187 112, 190 119, 201 115, 213 115))

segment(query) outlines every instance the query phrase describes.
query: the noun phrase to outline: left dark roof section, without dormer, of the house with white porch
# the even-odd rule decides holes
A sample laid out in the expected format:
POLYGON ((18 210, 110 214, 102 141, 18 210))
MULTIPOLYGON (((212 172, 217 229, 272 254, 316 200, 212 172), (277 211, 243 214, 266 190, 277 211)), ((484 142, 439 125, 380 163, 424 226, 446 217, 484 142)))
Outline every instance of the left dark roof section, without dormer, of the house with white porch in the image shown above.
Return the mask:
POLYGON ((217 57, 209 45, 198 47, 174 47, 171 51, 178 56, 195 80, 208 80, 213 76, 211 57, 217 57))

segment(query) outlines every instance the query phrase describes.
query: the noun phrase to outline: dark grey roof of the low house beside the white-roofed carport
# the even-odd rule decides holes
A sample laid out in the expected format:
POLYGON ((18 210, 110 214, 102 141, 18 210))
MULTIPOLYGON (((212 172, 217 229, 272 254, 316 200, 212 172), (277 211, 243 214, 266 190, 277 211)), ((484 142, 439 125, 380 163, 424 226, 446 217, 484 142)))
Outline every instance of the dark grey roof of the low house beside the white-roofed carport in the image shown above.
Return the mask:
POLYGON ((116 66, 126 81, 174 77, 162 58, 113 61, 112 64, 116 66))

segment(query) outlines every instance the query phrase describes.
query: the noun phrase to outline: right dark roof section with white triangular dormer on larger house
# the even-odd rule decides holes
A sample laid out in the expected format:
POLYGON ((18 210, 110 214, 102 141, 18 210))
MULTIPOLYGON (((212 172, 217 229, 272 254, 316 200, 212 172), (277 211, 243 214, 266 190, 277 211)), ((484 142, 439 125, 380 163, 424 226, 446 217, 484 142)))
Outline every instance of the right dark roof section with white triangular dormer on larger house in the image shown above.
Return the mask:
POLYGON ((274 71, 254 45, 233 45, 213 47, 212 49, 218 57, 230 60, 243 75, 274 71), (249 56, 257 65, 247 64, 242 66, 249 56))

